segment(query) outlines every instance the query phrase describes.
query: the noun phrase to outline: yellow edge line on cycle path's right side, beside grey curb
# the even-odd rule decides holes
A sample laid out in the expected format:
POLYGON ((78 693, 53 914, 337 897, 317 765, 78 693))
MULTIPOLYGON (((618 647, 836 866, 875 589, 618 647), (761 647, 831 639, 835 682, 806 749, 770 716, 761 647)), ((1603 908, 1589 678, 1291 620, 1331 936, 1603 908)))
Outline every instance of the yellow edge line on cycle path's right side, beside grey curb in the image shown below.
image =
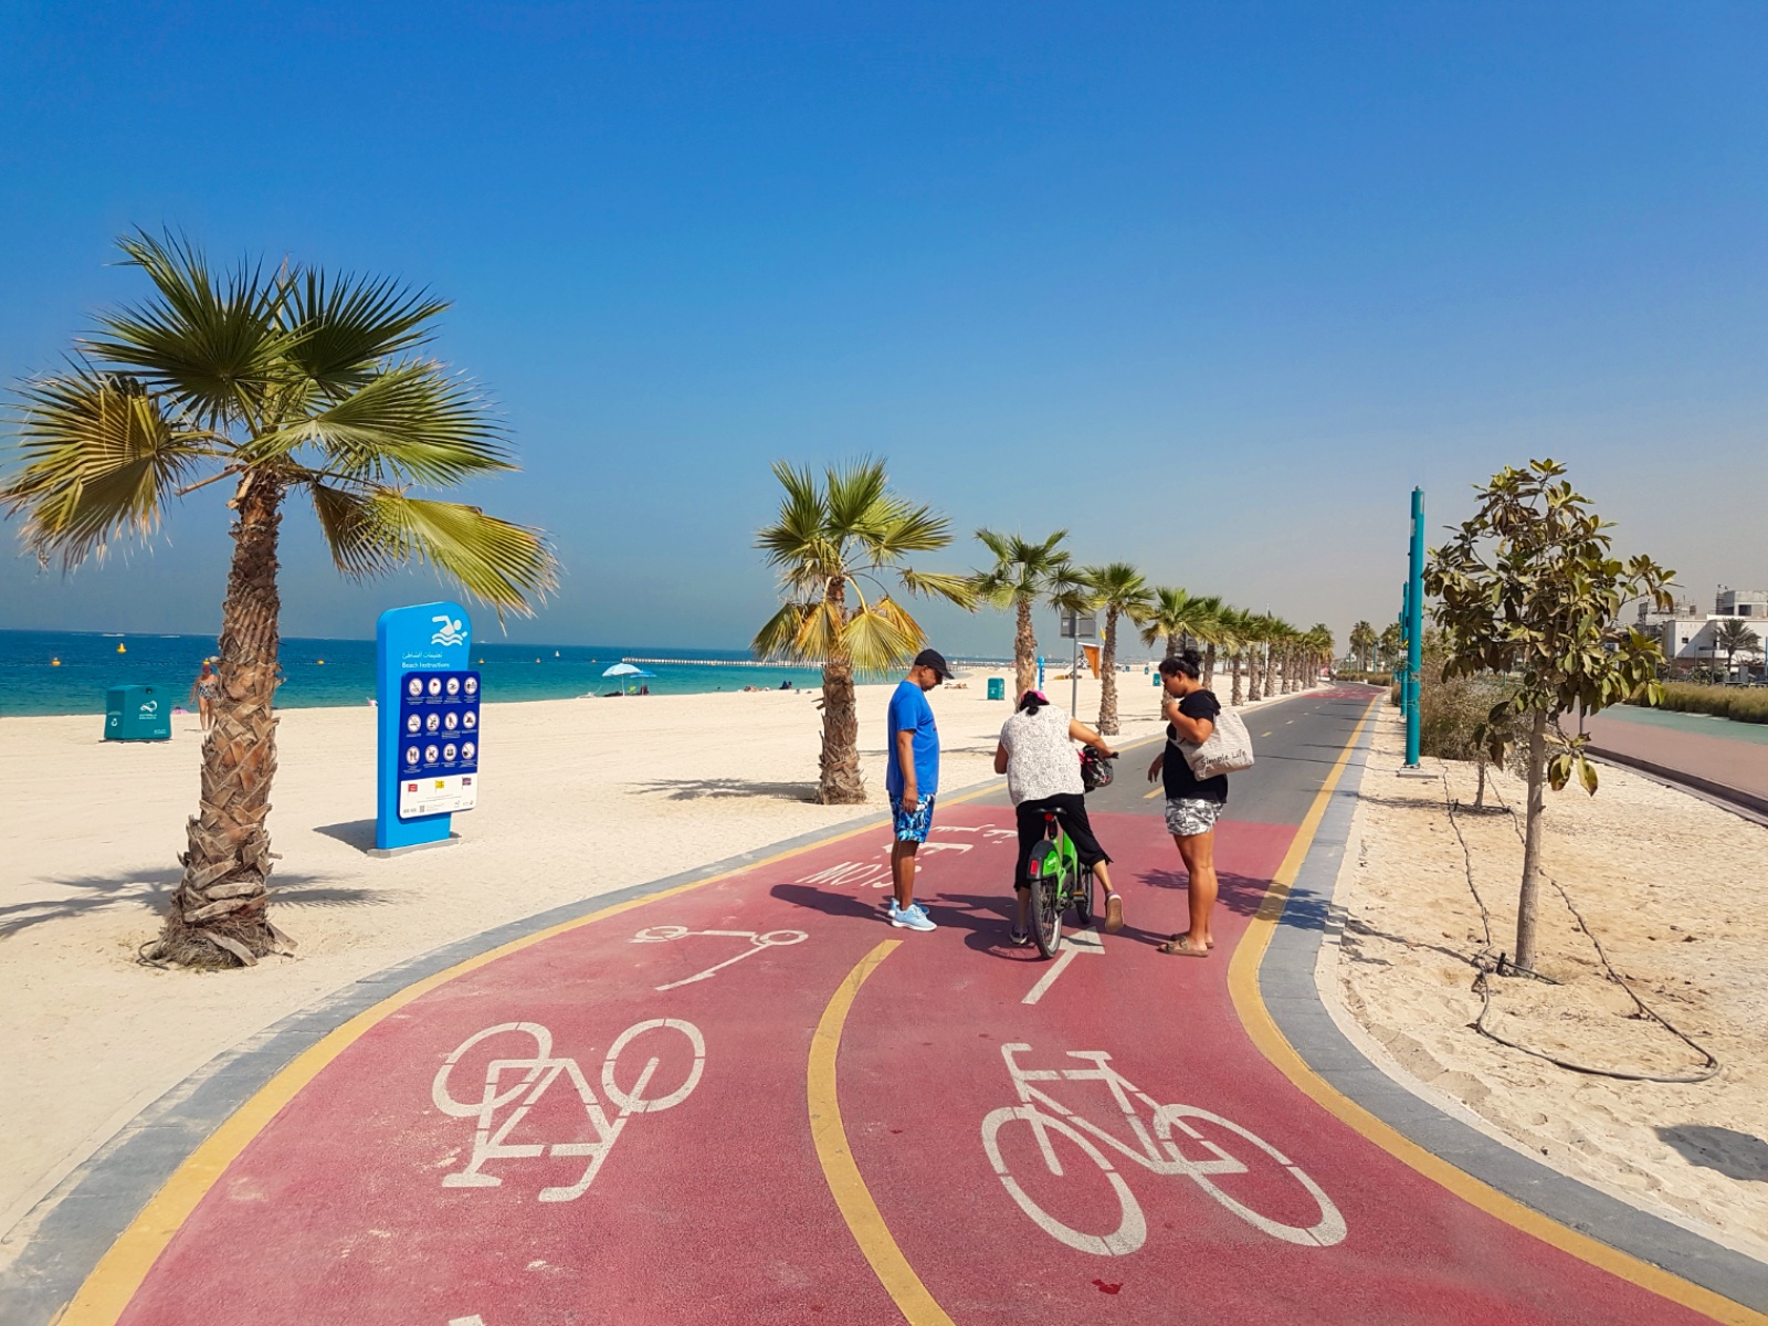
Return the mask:
POLYGON ((1577 1231, 1561 1225, 1558 1220, 1552 1220, 1540 1211, 1524 1206, 1513 1197, 1497 1192, 1497 1188, 1482 1183, 1466 1170, 1455 1169, 1441 1156, 1425 1151, 1421 1146, 1377 1119, 1349 1096, 1340 1094, 1330 1082, 1326 1082, 1326 1078, 1319 1077, 1299 1054, 1296 1054, 1294 1047, 1284 1038, 1284 1033, 1276 1029, 1276 1022, 1271 1018, 1271 1011, 1264 1006, 1264 997, 1259 994, 1259 964, 1264 960, 1264 951, 1271 944, 1271 934, 1276 930, 1276 923, 1289 902, 1289 889, 1294 886, 1296 875, 1301 872, 1301 863, 1307 859, 1314 834, 1319 833, 1321 820, 1326 817, 1326 804, 1331 801, 1333 789, 1338 787, 1338 778, 1351 762, 1351 753, 1356 750, 1358 737, 1363 735, 1363 728, 1374 716, 1376 704, 1379 704, 1379 700, 1370 702, 1368 709, 1363 713, 1363 720, 1356 725, 1351 739, 1338 753, 1338 760, 1333 764, 1331 773, 1326 774, 1326 781, 1315 794, 1314 804, 1308 806, 1307 819, 1301 820, 1301 827, 1289 843, 1289 852, 1284 856, 1284 863, 1276 868, 1276 875, 1271 877, 1271 888, 1266 891, 1257 916, 1254 916, 1252 923, 1246 926, 1246 934, 1234 948, 1234 958, 1227 971, 1227 988, 1234 999, 1234 1011, 1239 1015, 1239 1022, 1246 1029, 1246 1034, 1252 1038, 1254 1045, 1259 1047, 1259 1052, 1269 1059, 1284 1077, 1294 1082, 1303 1094, 1310 1096, 1322 1109, 1326 1109, 1328 1114, 1333 1114, 1342 1123, 1354 1128, 1395 1160, 1409 1165, 1443 1188, 1448 1188, 1464 1202, 1471 1202, 1487 1215, 1497 1216, 1505 1223, 1520 1229, 1524 1234, 1538 1238, 1542 1243, 1559 1248, 1561 1252, 1568 1252, 1574 1257, 1586 1261, 1591 1266, 1598 1266, 1611 1275, 1618 1275, 1623 1280, 1630 1280, 1641 1289, 1650 1289, 1653 1294, 1667 1298, 1673 1303, 1680 1303, 1685 1308, 1704 1312, 1713 1321, 1726 1322, 1726 1326, 1768 1326, 1768 1317, 1763 1314, 1754 1312, 1741 1303, 1734 1303, 1724 1294, 1715 1294, 1711 1289, 1703 1289, 1701 1285, 1683 1280, 1678 1275, 1671 1275, 1669 1271, 1651 1266, 1650 1262, 1642 1262, 1637 1257, 1630 1257, 1618 1248, 1611 1248, 1607 1243, 1579 1234, 1577 1231))

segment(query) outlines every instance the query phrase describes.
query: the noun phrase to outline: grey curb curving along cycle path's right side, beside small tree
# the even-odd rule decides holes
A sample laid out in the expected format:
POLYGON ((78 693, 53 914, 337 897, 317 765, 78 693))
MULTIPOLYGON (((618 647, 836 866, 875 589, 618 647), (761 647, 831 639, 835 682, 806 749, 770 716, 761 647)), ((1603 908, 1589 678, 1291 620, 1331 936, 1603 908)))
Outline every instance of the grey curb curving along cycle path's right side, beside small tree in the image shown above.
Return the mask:
POLYGON ((1466 1174, 1568 1229, 1749 1308, 1768 1312, 1768 1266, 1763 1262, 1487 1137, 1416 1094, 1406 1078, 1390 1075, 1370 1061, 1340 1031, 1322 999, 1315 971, 1322 942, 1328 935, 1337 942, 1344 930, 1344 912, 1333 905, 1333 893, 1351 836, 1351 817, 1368 774, 1372 739, 1374 725, 1365 730, 1351 757, 1354 776, 1347 769, 1326 806, 1259 967, 1259 994, 1278 1031, 1335 1091, 1466 1174))

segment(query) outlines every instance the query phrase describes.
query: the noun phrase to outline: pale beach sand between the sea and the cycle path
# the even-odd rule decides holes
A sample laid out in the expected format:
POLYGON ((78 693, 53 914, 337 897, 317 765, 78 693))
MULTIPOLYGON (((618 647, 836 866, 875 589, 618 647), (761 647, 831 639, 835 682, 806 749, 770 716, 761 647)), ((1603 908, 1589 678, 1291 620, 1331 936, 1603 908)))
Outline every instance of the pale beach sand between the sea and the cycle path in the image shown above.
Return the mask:
MULTIPOLYGON (((987 675, 932 695, 946 792, 990 778, 1004 702, 987 675)), ((1124 674, 1124 741, 1158 730, 1124 674)), ((1050 695, 1068 700, 1068 682, 1050 695)), ((292 709, 271 815, 274 916, 301 944, 225 974, 134 962, 177 880, 200 734, 106 744, 103 718, 7 718, 0 741, 0 1231, 141 1107, 217 1052, 405 958, 578 898, 661 879, 884 810, 888 686, 861 688, 872 801, 819 806, 812 691, 488 705, 484 803, 453 847, 371 859, 375 711, 292 709), (594 838, 592 838, 594 836, 594 838), (594 849, 591 852, 591 849, 594 849)), ((1080 716, 1098 714, 1082 681, 1080 716)), ((882 896, 882 895, 880 895, 882 896)), ((18 1238, 0 1238, 0 1262, 18 1238)))

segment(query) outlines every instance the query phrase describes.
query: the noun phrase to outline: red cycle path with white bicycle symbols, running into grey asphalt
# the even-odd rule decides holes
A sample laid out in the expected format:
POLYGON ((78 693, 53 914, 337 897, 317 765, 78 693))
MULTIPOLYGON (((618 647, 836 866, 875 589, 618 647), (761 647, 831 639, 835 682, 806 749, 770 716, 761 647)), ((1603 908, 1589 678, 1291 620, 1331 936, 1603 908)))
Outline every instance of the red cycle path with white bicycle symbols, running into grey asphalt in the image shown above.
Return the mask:
POLYGON ((622 903, 285 1070, 64 1326, 1711 1321, 1402 1163, 1243 1027, 1231 956, 1367 705, 1257 713, 1208 960, 1155 948, 1185 879, 1146 751, 1093 799, 1130 925, 1055 962, 1006 942, 999 799, 941 808, 932 934, 882 918, 880 827, 622 903))

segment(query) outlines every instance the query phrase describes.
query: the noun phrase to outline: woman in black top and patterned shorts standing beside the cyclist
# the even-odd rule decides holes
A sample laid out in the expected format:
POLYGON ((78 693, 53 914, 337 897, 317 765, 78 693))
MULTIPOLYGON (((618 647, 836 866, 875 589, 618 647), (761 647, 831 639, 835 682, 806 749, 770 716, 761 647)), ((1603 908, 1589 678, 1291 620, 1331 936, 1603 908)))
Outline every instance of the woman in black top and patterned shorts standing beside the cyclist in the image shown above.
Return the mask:
POLYGON ((1160 684, 1165 702, 1160 713, 1167 720, 1167 746, 1147 769, 1147 781, 1160 778, 1167 790, 1167 833, 1177 843, 1179 857, 1190 875, 1186 889, 1192 905, 1192 928, 1160 946, 1162 953, 1186 958, 1208 958, 1215 948, 1209 934, 1209 916, 1215 912, 1215 822, 1227 806, 1227 774, 1197 778, 1185 760, 1185 751, 1174 743, 1200 746, 1215 732, 1215 718, 1222 702, 1199 681, 1202 656, 1186 649, 1177 658, 1160 661, 1160 684))

